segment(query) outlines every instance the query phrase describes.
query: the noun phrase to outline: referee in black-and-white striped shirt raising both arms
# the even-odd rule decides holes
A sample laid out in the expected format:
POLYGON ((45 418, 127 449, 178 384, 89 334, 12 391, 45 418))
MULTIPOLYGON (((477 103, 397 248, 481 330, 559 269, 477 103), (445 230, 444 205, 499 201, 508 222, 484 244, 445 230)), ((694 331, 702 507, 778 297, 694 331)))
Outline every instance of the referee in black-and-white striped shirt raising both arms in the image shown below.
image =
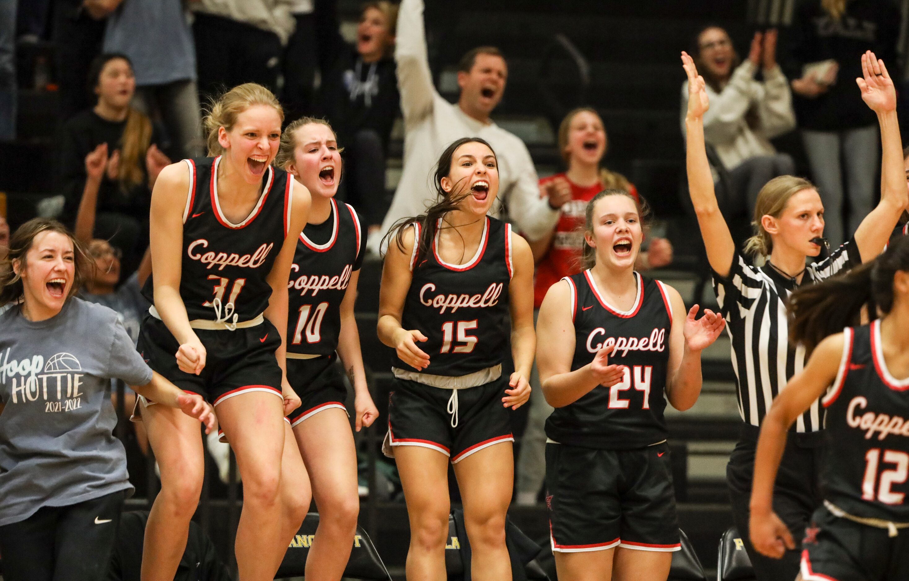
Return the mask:
MULTIPOLYGON (((811 182, 791 175, 774 178, 758 193, 755 235, 745 245, 746 254, 764 258, 764 266, 757 267, 735 248, 717 207, 704 151, 703 116, 708 107, 704 79, 698 76, 691 57, 683 53, 682 61, 688 75, 688 186, 713 273, 716 298, 732 339, 739 411, 744 420, 741 438, 726 468, 733 517, 758 580, 793 579, 799 573, 800 549, 787 551, 782 559, 774 560, 755 552, 747 539, 759 426, 779 390, 804 367, 804 348, 791 345, 788 340, 784 300, 797 287, 847 271, 884 250, 907 202, 894 84, 884 63, 874 54, 862 56, 864 79, 856 81, 864 102, 877 113, 884 149, 881 202, 864 218, 850 241, 823 261, 806 267, 806 258, 818 256, 821 251, 824 205, 811 182)), ((804 537, 811 513, 821 503, 818 476, 823 420, 816 401, 796 419, 774 485, 774 511, 799 540, 804 537)))

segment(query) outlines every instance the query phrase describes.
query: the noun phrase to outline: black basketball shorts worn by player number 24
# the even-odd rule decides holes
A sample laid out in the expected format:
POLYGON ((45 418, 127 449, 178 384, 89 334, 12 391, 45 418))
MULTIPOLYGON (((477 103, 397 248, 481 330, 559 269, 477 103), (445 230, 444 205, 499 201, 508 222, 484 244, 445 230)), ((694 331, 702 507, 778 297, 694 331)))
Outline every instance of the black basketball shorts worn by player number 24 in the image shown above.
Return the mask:
POLYGON ((665 442, 631 450, 547 443, 546 507, 554 552, 682 547, 665 442))

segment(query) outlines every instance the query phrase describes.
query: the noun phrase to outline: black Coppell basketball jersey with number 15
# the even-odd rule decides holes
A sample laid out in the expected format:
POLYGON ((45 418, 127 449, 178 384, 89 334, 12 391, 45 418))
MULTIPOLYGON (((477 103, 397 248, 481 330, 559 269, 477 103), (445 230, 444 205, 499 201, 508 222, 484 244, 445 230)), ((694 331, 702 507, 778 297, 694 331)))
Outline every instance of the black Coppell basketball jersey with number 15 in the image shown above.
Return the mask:
MULTIPOLYGON (((440 220, 441 224, 441 220, 440 220)), ((448 264, 436 250, 438 231, 431 248, 415 264, 420 239, 415 224, 411 271, 401 326, 420 330, 428 339, 417 346, 429 355, 424 373, 456 377, 499 365, 511 326, 508 323, 508 284, 512 277, 511 224, 486 218, 474 258, 448 264)), ((392 356, 392 366, 415 371, 392 356)))

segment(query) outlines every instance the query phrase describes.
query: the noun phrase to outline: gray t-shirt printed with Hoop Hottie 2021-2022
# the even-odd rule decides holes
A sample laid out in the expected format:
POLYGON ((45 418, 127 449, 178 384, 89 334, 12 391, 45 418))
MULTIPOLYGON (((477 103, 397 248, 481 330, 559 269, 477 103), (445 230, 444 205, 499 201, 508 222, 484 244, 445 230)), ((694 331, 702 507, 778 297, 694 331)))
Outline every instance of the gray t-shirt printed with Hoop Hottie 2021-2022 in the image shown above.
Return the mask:
POLYGON ((18 305, 0 315, 0 527, 132 492, 113 378, 152 379, 113 310, 73 298, 48 320, 29 321, 18 305))

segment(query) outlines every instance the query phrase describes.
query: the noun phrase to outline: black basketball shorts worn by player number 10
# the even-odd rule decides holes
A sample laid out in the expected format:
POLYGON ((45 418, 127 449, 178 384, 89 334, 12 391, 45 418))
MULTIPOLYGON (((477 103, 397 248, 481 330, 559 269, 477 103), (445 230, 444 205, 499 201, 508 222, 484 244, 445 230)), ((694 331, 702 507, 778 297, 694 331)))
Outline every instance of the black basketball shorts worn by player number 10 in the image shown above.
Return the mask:
POLYGON ((305 419, 325 409, 344 409, 347 388, 337 366, 337 355, 315 359, 287 358, 287 381, 300 398, 300 407, 290 412, 287 420, 298 426, 305 419))

